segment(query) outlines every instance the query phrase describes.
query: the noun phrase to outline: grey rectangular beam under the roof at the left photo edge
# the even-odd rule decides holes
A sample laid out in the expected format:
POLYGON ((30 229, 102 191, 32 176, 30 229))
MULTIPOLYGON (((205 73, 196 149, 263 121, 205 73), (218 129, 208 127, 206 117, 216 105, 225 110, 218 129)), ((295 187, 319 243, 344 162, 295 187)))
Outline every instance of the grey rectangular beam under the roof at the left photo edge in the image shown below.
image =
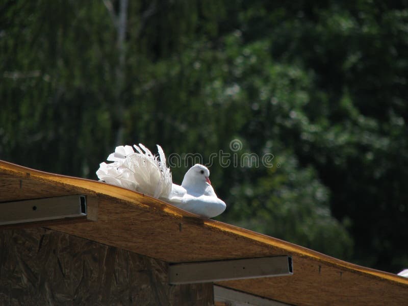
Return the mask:
POLYGON ((0 203, 0 225, 86 217, 85 195, 67 195, 0 203))

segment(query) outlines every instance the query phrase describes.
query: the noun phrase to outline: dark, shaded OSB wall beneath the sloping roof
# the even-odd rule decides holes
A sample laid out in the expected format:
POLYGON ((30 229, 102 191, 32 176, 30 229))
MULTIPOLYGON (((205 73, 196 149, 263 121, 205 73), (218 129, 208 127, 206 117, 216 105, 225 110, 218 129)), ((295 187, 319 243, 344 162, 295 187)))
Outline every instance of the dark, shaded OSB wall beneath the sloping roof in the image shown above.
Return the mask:
POLYGON ((0 305, 212 305, 211 284, 169 286, 167 264, 44 228, 0 232, 0 305))

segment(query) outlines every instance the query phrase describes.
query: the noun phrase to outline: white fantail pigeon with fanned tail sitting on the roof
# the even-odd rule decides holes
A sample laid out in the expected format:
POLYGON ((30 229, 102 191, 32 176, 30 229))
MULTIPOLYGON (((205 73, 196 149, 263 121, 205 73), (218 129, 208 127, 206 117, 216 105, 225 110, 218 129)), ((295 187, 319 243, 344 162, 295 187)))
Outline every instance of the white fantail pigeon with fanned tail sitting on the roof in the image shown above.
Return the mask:
POLYGON ((159 158, 141 143, 134 148, 136 152, 129 145, 116 147, 107 158, 113 163, 99 164, 96 171, 99 180, 160 198, 201 217, 212 218, 225 210, 224 201, 211 186, 207 167, 200 164, 191 167, 179 186, 172 183, 160 145, 157 145, 159 158))

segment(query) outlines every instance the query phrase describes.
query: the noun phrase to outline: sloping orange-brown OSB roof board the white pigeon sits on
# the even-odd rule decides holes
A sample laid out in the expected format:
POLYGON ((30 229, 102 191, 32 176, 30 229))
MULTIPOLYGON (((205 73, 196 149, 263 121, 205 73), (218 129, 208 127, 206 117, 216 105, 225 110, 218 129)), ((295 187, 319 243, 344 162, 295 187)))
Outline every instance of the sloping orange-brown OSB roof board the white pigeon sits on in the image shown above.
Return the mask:
POLYGON ((95 197, 98 221, 50 226, 54 230, 173 263, 281 254, 293 258, 292 276, 220 282, 224 287, 298 305, 400 305, 408 300, 406 278, 200 219, 123 188, 0 162, 0 201, 73 193, 95 197))

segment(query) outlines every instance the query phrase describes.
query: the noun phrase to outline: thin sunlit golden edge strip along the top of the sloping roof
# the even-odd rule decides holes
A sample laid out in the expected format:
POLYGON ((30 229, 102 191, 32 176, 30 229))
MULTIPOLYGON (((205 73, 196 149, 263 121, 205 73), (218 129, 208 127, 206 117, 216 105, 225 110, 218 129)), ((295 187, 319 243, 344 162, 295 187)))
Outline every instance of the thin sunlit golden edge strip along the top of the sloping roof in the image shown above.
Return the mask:
MULTIPOLYGON (((159 199, 150 197, 148 195, 141 194, 136 191, 125 189, 122 187, 109 185, 105 183, 100 183, 98 181, 82 179, 79 177, 66 176, 61 174, 54 174, 49 172, 44 172, 40 170, 31 169, 28 167, 16 165, 6 161, 0 160, 0 174, 5 173, 9 175, 14 175, 20 179, 33 179, 39 181, 46 181, 49 183, 57 184, 69 184, 73 187, 80 188, 82 190, 88 191, 89 195, 104 194, 107 196, 112 196, 126 201, 131 201, 135 205, 140 205, 139 201, 135 203, 135 199, 140 199, 140 196, 149 198, 149 205, 145 207, 154 205, 156 209, 160 209, 165 214, 172 217, 183 218, 183 217, 194 217, 199 219, 196 215, 186 212, 182 209, 174 207, 166 202, 159 199), (109 188, 107 188, 109 186, 109 188)), ((348 270, 350 272, 357 272, 361 274, 368 274, 376 278, 386 279, 392 283, 396 283, 401 286, 408 286, 408 278, 399 276, 397 274, 380 271, 368 267, 359 266, 352 264, 326 254, 320 253, 318 251, 311 250, 281 239, 270 237, 261 233, 253 232, 245 228, 241 228, 232 224, 223 223, 220 221, 212 219, 199 219, 203 225, 212 228, 213 230, 221 231, 230 235, 238 235, 251 240, 256 243, 261 243, 265 245, 270 245, 279 249, 282 249, 288 254, 293 254, 299 257, 308 257, 315 261, 322 262, 326 265, 337 267, 343 270, 348 270)), ((294 269, 296 269, 296 263, 294 263, 294 269)))

